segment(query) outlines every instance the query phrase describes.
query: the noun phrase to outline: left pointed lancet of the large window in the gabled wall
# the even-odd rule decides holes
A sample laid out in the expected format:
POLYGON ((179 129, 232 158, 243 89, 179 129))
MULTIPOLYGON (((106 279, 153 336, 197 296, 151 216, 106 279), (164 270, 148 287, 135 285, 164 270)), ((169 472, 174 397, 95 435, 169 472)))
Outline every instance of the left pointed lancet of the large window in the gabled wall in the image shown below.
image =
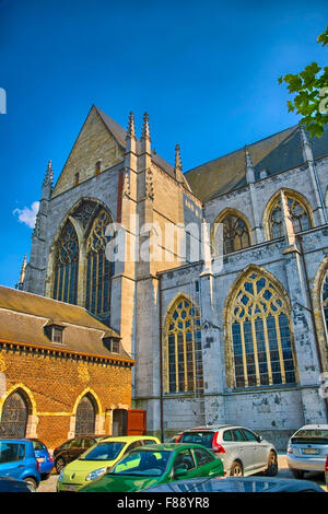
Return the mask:
POLYGON ((79 243, 75 230, 68 221, 56 246, 54 293, 55 300, 77 304, 79 243))

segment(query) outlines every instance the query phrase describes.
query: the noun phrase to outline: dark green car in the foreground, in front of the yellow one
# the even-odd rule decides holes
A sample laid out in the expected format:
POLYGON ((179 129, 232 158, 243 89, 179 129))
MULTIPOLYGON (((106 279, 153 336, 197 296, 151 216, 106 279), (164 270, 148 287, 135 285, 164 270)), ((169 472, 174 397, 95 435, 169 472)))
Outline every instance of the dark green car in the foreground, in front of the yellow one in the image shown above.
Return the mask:
POLYGON ((223 476, 222 460, 200 444, 149 444, 78 492, 133 492, 172 480, 223 476))

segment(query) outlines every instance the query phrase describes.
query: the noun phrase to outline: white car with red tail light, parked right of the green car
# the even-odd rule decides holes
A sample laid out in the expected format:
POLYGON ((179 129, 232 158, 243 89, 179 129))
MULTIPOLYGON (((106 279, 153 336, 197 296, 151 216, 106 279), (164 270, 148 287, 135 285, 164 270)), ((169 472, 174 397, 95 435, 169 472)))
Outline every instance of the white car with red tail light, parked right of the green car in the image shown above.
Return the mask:
POLYGON ((278 472, 274 445, 245 427, 220 424, 189 429, 177 442, 202 444, 211 449, 222 459, 224 471, 231 477, 260 471, 274 477, 278 472))

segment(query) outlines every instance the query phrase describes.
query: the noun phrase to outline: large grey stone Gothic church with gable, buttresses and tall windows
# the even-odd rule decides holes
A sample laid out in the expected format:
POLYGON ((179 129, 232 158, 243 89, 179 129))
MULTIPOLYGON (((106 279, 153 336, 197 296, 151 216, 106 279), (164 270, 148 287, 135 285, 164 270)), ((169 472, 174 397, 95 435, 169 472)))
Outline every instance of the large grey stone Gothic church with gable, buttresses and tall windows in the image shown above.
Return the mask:
POLYGON ((284 448, 327 422, 327 131, 183 173, 148 115, 138 139, 93 106, 56 185, 48 164, 23 290, 119 334, 148 432, 241 423, 284 448))

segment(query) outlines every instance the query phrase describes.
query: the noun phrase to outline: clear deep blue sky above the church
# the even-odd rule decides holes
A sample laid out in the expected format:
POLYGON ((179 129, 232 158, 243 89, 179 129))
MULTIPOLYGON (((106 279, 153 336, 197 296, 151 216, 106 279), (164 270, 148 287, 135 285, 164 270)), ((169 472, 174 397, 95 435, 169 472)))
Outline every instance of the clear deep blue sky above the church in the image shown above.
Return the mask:
POLYGON ((0 0, 0 284, 14 287, 49 159, 58 177, 92 104, 184 171, 294 125, 278 78, 317 61, 327 1, 0 0), (27 211, 28 213, 28 211, 27 211), (28 219, 26 220, 28 222, 28 219))

